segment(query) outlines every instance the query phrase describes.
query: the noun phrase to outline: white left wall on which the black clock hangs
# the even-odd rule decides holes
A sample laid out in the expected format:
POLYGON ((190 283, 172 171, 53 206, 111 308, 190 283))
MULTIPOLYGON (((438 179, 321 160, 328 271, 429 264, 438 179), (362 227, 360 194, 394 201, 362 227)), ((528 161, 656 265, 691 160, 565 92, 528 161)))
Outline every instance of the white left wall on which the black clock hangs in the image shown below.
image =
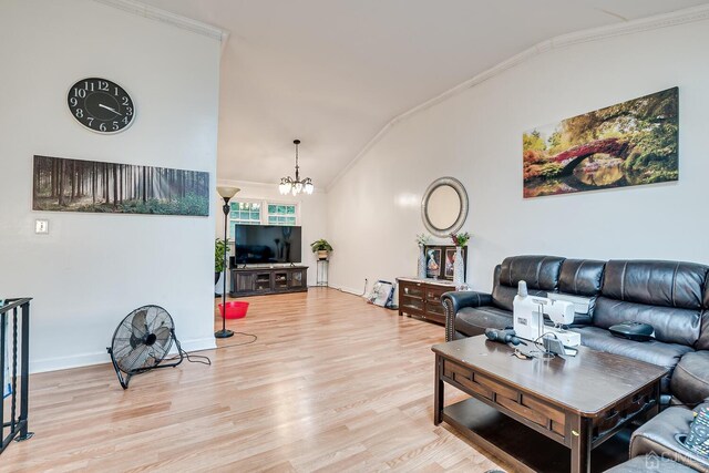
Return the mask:
POLYGON ((105 362, 133 309, 156 304, 187 349, 214 346, 209 217, 32 212, 34 154, 216 174, 219 42, 90 0, 0 8, 0 292, 33 297, 32 371, 105 362), (75 81, 102 76, 137 114, 117 135, 79 125, 75 81), (50 234, 34 235, 47 218, 50 234))

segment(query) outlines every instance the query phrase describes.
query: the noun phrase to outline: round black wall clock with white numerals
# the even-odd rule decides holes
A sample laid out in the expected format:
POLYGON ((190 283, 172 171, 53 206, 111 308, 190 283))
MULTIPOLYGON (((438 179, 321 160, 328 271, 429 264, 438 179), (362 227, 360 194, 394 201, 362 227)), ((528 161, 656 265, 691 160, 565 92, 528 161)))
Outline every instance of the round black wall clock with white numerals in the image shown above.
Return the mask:
POLYGON ((131 95, 106 79, 82 79, 69 89, 66 102, 79 123, 101 134, 122 132, 135 119, 131 95))

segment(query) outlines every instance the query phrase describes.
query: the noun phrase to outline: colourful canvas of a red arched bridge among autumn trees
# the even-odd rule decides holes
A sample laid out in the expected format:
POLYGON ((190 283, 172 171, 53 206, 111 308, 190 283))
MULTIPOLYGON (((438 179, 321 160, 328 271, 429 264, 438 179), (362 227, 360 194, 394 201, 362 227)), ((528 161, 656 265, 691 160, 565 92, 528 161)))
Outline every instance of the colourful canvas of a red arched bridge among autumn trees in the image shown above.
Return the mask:
POLYGON ((524 197, 677 181, 678 88, 523 134, 524 197))

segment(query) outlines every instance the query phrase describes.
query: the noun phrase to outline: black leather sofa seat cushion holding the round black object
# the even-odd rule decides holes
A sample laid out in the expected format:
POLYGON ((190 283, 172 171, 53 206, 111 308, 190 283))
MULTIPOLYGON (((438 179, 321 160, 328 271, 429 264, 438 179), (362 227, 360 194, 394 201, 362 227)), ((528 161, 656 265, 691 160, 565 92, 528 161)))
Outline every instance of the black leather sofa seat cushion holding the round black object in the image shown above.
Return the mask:
POLYGON ((626 340, 614 337, 608 330, 598 327, 578 327, 572 330, 580 333, 580 343, 585 347, 667 368, 669 372, 662 378, 664 393, 669 392, 669 379, 679 359, 692 351, 691 348, 678 343, 626 340))

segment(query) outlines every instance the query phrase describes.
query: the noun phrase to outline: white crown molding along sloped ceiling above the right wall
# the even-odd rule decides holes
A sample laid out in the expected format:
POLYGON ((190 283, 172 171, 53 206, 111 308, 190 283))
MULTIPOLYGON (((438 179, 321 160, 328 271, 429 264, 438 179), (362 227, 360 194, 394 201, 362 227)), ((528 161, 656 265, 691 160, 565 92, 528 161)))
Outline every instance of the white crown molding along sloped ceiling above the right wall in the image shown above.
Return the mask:
POLYGON ((698 21, 709 20, 709 4, 699 7, 682 9, 670 13, 643 18, 638 20, 627 21, 625 23, 609 24, 606 27, 593 28, 575 33, 563 34, 554 37, 549 40, 542 41, 532 48, 522 51, 518 54, 513 55, 510 59, 481 72, 477 75, 455 85, 448 91, 429 99, 428 101, 420 103, 413 109, 403 112, 393 119, 391 119, 367 144, 362 150, 350 161, 347 166, 340 171, 335 178, 328 184, 327 192, 330 192, 335 185, 377 144, 381 138, 394 126, 397 123, 409 119, 424 110, 428 110, 448 99, 455 96, 467 89, 471 89, 480 83, 487 81, 496 75, 502 74, 508 69, 515 68, 537 55, 544 54, 552 50, 563 49, 575 44, 588 43, 595 41, 602 41, 608 38, 615 38, 626 34, 640 33, 645 31, 659 30, 662 28, 676 27, 686 23, 695 23, 698 21))

